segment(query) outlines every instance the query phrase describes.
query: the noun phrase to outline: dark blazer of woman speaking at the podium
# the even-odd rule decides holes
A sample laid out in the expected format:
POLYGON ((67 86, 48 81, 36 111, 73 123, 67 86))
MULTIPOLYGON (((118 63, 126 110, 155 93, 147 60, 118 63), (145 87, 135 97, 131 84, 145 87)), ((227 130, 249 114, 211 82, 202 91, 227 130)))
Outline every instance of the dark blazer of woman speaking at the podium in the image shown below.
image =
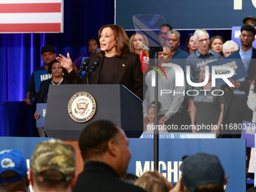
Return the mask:
MULTIPOLYGON (((93 62, 97 58, 96 55, 91 55, 89 57, 90 62, 88 65, 88 69, 93 65, 93 62)), ((102 62, 104 62, 104 58, 101 60, 99 66, 96 71, 90 75, 89 82, 90 84, 99 84, 99 75, 102 68, 102 62)), ((143 95, 143 74, 141 69, 141 62, 139 59, 139 54, 136 53, 128 53, 124 56, 124 58, 117 58, 117 72, 116 78, 114 80, 114 84, 123 84, 130 91, 132 91, 136 96, 139 96, 142 99, 143 95)), ((111 70, 111 69, 110 69, 111 70)), ((78 74, 73 70, 72 72, 66 72, 63 76, 69 81, 70 84, 86 84, 86 78, 79 78, 78 74)))

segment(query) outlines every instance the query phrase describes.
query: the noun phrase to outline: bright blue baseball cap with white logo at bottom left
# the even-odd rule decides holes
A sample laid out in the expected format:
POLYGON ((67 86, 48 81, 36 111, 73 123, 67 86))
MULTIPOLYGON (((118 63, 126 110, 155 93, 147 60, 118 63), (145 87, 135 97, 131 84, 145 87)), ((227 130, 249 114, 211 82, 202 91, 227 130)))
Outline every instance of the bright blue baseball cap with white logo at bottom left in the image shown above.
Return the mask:
POLYGON ((4 150, 0 151, 0 175, 5 171, 14 171, 19 175, 14 178, 2 179, 0 178, 0 183, 12 183, 19 181, 26 176, 28 168, 26 166, 26 159, 20 150, 4 150))

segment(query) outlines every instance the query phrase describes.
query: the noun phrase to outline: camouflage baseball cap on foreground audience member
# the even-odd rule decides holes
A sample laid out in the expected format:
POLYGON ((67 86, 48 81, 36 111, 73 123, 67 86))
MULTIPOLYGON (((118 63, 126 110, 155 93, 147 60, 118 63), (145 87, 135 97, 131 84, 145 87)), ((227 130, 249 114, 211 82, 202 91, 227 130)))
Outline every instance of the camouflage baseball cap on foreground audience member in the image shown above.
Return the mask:
POLYGON ((65 180, 68 181, 75 174, 75 150, 59 139, 38 143, 32 154, 31 169, 33 174, 57 170, 65 175, 65 180))

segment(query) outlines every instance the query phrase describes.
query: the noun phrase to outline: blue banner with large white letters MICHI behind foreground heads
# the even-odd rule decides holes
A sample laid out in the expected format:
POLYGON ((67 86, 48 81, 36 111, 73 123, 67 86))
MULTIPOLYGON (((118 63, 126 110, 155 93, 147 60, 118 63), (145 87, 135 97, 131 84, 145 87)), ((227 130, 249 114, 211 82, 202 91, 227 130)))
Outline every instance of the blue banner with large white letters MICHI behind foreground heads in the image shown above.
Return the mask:
MULTIPOLYGON (((154 140, 129 139, 132 158, 128 171, 137 176, 154 170, 154 140)), ((181 176, 182 157, 198 152, 216 155, 226 175, 227 191, 245 191, 245 139, 160 139, 159 171, 169 182, 181 176)))

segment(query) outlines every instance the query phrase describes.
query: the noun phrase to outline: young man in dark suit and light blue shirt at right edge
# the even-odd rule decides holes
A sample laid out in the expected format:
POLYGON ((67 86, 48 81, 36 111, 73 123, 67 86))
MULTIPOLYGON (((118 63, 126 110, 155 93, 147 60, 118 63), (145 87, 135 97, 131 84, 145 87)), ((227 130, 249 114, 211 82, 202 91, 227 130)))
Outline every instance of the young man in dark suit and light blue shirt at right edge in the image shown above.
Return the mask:
POLYGON ((246 78, 239 79, 239 81, 232 80, 235 87, 230 88, 228 91, 224 105, 224 120, 228 128, 230 128, 229 130, 233 138, 241 136, 241 129, 231 130, 231 128, 241 126, 242 120, 251 121, 252 118, 252 111, 248 108, 247 99, 251 80, 256 74, 256 49, 252 47, 255 34, 254 26, 243 25, 241 27, 241 35, 239 36, 242 46, 240 50, 233 53, 239 53, 248 73, 246 78))

